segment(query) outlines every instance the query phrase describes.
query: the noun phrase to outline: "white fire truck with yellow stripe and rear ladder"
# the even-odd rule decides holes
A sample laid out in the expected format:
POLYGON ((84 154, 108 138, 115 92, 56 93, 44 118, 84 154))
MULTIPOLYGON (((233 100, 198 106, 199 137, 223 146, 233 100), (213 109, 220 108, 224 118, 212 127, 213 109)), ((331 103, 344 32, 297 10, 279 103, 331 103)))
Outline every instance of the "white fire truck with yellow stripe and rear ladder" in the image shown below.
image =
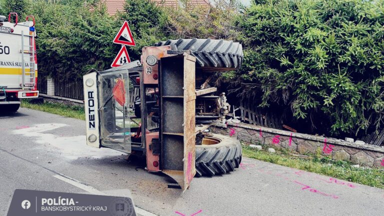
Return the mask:
POLYGON ((0 15, 0 112, 17 111, 21 98, 38 97, 35 20, 0 15), (14 23, 10 22, 14 18, 14 23))

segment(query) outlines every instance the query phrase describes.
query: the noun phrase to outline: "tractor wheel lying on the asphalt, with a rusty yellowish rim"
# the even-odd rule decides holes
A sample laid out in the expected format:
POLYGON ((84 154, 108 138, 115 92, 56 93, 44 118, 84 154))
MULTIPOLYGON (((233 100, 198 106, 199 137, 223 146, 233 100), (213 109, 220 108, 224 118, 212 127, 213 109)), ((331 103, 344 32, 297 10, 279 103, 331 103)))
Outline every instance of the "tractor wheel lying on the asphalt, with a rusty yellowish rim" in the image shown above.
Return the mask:
POLYGON ((196 145, 196 176, 225 174, 238 168, 241 162, 240 141, 224 135, 205 136, 196 145))

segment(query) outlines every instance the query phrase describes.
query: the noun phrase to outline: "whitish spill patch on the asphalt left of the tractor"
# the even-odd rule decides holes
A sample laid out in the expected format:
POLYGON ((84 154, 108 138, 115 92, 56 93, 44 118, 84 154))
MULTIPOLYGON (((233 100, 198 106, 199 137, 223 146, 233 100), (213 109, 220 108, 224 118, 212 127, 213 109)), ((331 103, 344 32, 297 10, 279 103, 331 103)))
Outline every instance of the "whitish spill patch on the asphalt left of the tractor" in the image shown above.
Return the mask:
POLYGON ((46 131, 54 130, 60 127, 69 126, 60 123, 35 124, 31 127, 13 130, 14 134, 35 137, 35 142, 39 144, 50 144, 54 146, 61 155, 69 159, 79 157, 102 158, 104 156, 121 155, 121 152, 110 148, 95 148, 86 145, 85 135, 78 136, 60 136, 46 131))

